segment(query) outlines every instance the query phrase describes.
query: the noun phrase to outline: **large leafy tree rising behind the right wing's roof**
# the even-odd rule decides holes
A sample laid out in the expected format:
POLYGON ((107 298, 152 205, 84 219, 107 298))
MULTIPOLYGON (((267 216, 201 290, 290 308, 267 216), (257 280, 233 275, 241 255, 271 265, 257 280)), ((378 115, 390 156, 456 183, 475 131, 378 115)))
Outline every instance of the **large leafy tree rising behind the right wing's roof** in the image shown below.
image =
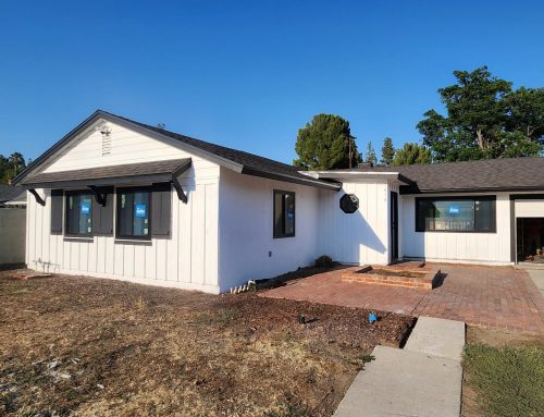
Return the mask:
POLYGON ((418 123, 435 161, 537 156, 544 145, 544 90, 520 88, 486 66, 454 71, 456 84, 438 89, 446 115, 418 123))

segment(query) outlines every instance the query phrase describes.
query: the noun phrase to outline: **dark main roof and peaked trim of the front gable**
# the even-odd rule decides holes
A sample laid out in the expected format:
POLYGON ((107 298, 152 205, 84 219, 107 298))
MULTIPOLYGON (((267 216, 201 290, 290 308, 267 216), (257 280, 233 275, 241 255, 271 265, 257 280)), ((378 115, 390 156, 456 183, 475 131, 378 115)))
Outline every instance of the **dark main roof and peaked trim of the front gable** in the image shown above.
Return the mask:
POLYGON ((48 159, 51 155, 61 149, 74 136, 76 136, 84 128, 88 127, 91 123, 96 122, 98 119, 103 119, 113 123, 120 123, 128 127, 139 127, 148 133, 153 133, 156 136, 162 136, 178 140, 180 143, 184 144, 184 147, 187 149, 187 151, 195 152, 196 155, 202 156, 203 158, 211 159, 219 164, 225 165, 243 174, 262 176, 277 181, 298 183, 298 184, 317 186, 335 191, 338 191, 342 186, 342 184, 335 182, 321 181, 305 175, 298 172, 298 170, 295 167, 288 165, 286 163, 259 157, 257 155, 245 152, 243 150, 227 148, 224 146, 211 144, 209 142, 195 139, 193 137, 184 136, 175 132, 170 132, 145 123, 136 122, 134 120, 126 119, 113 113, 109 113, 103 110, 97 110, 82 124, 79 124, 66 136, 64 136, 61 140, 54 144, 50 149, 44 152, 30 165, 28 165, 25 171, 18 174, 13 180, 13 183, 14 184, 20 183, 22 179, 24 179, 29 172, 32 172, 34 168, 45 162, 46 159, 48 159))

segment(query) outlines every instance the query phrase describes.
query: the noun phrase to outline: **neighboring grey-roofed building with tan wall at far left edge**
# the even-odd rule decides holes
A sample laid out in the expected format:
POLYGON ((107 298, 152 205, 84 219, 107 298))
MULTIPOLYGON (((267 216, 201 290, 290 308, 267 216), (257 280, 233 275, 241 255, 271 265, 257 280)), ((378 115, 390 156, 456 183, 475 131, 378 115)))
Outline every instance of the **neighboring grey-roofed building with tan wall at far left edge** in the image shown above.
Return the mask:
POLYGON ((24 263, 26 192, 0 184, 0 265, 24 263))

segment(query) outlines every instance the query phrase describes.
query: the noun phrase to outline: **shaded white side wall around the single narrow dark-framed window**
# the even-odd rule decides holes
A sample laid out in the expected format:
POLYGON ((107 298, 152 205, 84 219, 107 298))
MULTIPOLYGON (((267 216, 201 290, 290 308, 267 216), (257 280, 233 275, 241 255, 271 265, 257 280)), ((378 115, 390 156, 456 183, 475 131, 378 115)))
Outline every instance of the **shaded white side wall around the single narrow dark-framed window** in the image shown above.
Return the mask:
POLYGON ((319 193, 314 187, 243 175, 222 168, 219 193, 221 291, 313 263, 321 255, 318 250, 319 193), (274 189, 295 192, 294 237, 273 238, 274 189))

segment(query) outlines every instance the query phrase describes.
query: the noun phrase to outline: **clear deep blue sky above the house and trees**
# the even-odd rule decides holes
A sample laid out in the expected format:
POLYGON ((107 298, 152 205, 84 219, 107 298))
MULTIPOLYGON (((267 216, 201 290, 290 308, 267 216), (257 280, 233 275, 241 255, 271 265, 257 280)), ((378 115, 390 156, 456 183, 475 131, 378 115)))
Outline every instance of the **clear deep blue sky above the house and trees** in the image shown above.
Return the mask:
POLYGON ((398 146, 454 70, 544 86, 542 22, 542 0, 0 0, 0 154, 97 108, 289 163, 320 112, 398 146))

